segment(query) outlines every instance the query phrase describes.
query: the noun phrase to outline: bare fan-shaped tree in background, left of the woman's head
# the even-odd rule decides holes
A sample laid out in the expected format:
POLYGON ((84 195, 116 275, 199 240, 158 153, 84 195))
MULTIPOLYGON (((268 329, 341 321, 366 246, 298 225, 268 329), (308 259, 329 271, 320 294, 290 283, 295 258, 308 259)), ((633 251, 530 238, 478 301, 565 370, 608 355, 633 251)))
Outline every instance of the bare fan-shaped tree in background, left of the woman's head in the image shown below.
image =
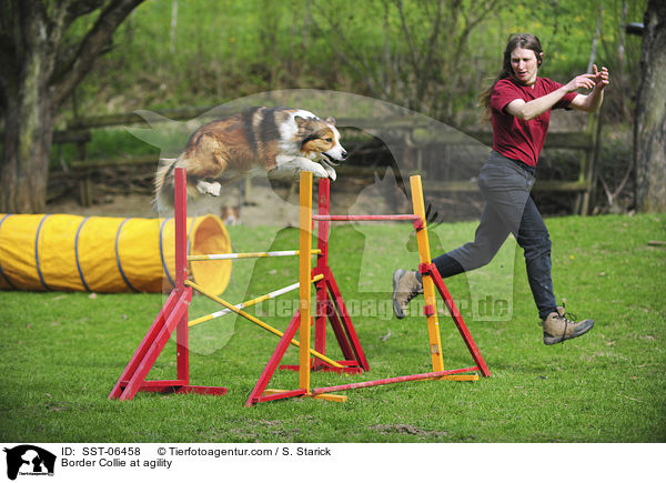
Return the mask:
POLYGON ((383 42, 374 50, 354 42, 353 26, 335 16, 334 8, 315 3, 312 21, 372 95, 446 118, 462 76, 473 68, 462 62, 470 34, 502 1, 377 0, 365 6, 383 16, 383 42))

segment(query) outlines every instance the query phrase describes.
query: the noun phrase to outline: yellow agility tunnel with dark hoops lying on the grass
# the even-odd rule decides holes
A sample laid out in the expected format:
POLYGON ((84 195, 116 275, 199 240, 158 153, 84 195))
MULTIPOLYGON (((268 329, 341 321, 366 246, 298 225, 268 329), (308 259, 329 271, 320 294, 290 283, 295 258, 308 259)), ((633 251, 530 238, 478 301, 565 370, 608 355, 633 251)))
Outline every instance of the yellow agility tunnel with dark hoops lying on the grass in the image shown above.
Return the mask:
MULTIPOLYGON (((222 220, 188 218, 188 255, 230 253, 222 220)), ((220 294, 231 260, 193 261, 188 274, 220 294)), ((0 289, 162 292, 175 280, 173 218, 0 213, 0 289)))

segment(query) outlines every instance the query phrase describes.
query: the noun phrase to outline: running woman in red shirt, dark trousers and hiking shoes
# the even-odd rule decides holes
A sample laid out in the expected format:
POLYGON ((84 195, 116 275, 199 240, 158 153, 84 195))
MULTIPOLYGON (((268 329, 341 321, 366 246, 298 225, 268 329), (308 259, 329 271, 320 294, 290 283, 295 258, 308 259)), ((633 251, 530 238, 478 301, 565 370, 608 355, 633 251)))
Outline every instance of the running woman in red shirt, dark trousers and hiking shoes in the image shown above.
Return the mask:
MULTIPOLYGON (((551 239, 541 213, 529 198, 538 155, 544 145, 551 111, 578 109, 595 112, 604 100, 608 71, 594 72, 567 84, 537 76, 543 61, 536 36, 512 36, 504 51, 503 70, 481 98, 493 124, 493 151, 481 169, 478 187, 486 204, 473 242, 436 258, 442 278, 487 264, 509 233, 525 251, 527 278, 544 330, 544 343, 555 344, 583 335, 594 321, 573 322, 558 308, 551 278, 551 239), (592 89, 587 95, 577 89, 592 89)), ((423 292, 421 274, 396 270, 393 274, 393 309, 405 316, 410 300, 423 292)))

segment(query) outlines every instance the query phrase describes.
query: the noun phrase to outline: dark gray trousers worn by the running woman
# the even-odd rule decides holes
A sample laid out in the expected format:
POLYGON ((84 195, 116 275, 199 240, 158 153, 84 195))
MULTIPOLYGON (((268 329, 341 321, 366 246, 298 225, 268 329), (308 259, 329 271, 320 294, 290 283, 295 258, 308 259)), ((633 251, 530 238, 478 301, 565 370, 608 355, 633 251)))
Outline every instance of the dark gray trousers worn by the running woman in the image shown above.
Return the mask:
MULTIPOLYGON (((526 167, 526 165, 525 165, 526 167)), ((478 175, 486 204, 474 241, 433 260, 442 278, 490 263, 509 233, 525 252, 527 279, 543 320, 556 311, 551 276, 551 237, 529 197, 534 172, 492 151, 478 175)))

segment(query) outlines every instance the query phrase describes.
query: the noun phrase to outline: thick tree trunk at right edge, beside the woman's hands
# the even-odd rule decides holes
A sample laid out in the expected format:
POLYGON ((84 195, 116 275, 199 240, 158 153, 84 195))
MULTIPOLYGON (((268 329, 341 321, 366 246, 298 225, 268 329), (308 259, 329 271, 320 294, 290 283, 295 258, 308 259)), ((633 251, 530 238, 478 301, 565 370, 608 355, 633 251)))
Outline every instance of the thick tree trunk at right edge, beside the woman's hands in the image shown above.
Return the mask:
POLYGON ((649 0, 636 101, 636 208, 666 211, 666 3, 649 0))

